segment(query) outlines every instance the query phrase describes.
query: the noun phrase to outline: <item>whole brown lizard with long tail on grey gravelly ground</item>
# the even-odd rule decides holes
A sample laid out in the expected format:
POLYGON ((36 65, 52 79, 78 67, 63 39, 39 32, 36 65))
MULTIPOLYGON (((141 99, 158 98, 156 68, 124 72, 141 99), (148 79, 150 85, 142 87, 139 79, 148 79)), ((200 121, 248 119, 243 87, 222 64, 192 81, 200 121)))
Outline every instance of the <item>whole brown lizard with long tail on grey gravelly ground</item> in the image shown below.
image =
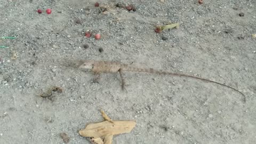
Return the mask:
POLYGON ((211 83, 215 83, 215 84, 219 84, 222 86, 226 86, 230 89, 233 89, 239 93, 241 93, 244 97, 244 101, 245 101, 245 95, 236 90, 235 88, 225 85, 225 84, 221 84, 219 82, 214 82, 211 81, 209 79, 205 79, 205 78, 201 78, 201 77, 196 77, 196 76, 190 76, 190 75, 186 75, 186 74, 178 74, 178 73, 171 73, 168 71, 163 71, 163 70, 155 70, 153 68, 136 68, 136 67, 131 67, 129 65, 126 64, 122 64, 120 62, 114 62, 114 61, 95 61, 95 60, 84 60, 82 61, 83 64, 79 66, 79 68, 85 69, 87 71, 93 71, 94 74, 99 75, 99 73, 117 73, 119 72, 121 79, 122 79, 122 89, 124 89, 124 77, 123 77, 123 71, 134 71, 134 72, 144 72, 144 73, 153 73, 153 74, 163 74, 163 75, 172 75, 172 76, 181 76, 181 77, 190 77, 190 78, 195 78, 195 79, 200 79, 202 81, 206 81, 206 82, 211 82, 211 83))

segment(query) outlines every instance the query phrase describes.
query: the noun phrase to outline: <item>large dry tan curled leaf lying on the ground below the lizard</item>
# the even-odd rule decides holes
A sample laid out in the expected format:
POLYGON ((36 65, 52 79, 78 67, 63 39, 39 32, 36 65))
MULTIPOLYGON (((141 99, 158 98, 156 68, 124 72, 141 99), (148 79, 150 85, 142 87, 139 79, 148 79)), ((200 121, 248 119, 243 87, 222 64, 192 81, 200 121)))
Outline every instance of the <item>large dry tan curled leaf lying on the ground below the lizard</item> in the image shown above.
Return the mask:
POLYGON ((89 124, 84 130, 79 131, 82 137, 91 137, 91 142, 94 144, 111 144, 113 135, 130 133, 136 125, 135 121, 113 121, 104 111, 100 111, 105 121, 89 124))

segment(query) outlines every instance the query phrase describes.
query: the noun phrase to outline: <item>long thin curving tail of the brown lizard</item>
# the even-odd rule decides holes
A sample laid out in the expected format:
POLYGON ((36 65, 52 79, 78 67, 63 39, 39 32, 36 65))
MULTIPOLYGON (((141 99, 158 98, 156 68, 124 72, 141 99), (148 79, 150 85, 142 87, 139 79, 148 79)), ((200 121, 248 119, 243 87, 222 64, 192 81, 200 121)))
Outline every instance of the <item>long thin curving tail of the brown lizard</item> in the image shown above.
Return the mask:
POLYGON ((226 86, 226 87, 228 87, 228 88, 230 88, 230 89, 233 89, 233 90, 235 90, 235 91, 241 93, 241 94, 243 95, 244 101, 245 101, 245 95, 244 95, 241 91, 238 91, 238 90, 235 89, 234 87, 231 87, 231 86, 228 86, 228 85, 219 83, 219 82, 211 81, 210 79, 205 79, 205 78, 196 77, 196 76, 190 76, 190 75, 185 75, 185 74, 171 73, 171 72, 163 71, 163 70, 155 70, 155 69, 152 69, 152 68, 143 69, 143 68, 127 67, 125 70, 126 70, 126 71, 134 71, 134 72, 143 72, 143 73, 159 74, 159 75, 172 75, 172 76, 180 76, 180 77, 190 77, 190 78, 199 79, 199 80, 205 81, 205 82, 211 82, 211 83, 219 84, 219 85, 226 86))

